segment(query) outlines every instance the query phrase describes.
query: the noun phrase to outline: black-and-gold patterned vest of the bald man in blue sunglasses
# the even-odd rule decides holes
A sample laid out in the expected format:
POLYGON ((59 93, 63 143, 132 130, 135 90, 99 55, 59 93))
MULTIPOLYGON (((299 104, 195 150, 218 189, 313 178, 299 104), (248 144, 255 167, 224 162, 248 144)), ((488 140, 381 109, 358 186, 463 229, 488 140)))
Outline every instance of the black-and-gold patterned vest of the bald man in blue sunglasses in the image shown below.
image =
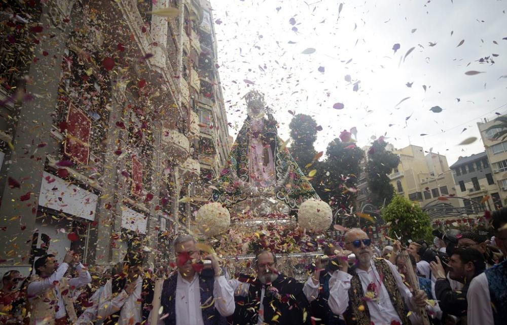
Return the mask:
MULTIPOLYGON (((374 264, 380 277, 383 278, 382 284, 389 294, 389 298, 391 300, 392 306, 394 307, 394 310, 396 310, 404 325, 411 325, 409 317, 407 317, 405 303, 403 301, 402 295, 400 294, 400 291, 398 290, 396 279, 392 275, 389 265, 386 261, 384 261, 384 259, 375 259, 374 264)), ((370 325, 370 310, 368 309, 368 304, 366 301, 364 301, 365 293, 363 292, 361 279, 355 272, 355 268, 351 268, 349 270, 349 274, 352 275, 349 290, 349 307, 344 313, 347 325, 370 325), (361 310, 359 310, 359 308, 361 310)))

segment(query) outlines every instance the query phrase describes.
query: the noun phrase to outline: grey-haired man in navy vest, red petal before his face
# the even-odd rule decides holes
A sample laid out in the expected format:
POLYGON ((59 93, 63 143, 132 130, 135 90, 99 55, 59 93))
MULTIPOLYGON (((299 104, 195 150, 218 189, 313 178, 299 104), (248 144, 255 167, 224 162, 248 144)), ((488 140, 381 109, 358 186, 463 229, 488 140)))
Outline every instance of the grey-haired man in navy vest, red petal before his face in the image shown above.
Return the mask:
POLYGON ((234 292, 223 275, 215 253, 204 256, 211 268, 201 264, 196 240, 180 235, 174 240, 177 272, 162 284, 158 324, 225 325, 234 313, 234 292))

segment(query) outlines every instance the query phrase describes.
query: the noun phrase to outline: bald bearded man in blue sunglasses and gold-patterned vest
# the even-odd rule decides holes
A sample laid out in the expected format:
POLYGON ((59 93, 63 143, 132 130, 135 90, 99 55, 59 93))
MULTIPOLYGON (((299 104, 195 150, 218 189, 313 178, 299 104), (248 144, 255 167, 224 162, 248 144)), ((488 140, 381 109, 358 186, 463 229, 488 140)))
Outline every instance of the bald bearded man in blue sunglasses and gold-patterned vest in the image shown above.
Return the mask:
POLYGON ((347 255, 339 253, 341 270, 330 279, 329 307, 343 314, 347 324, 410 324, 405 306, 415 311, 426 306, 423 291, 413 296, 396 267, 373 258, 371 240, 361 229, 345 233, 345 249, 355 254, 357 264, 349 269, 347 255))

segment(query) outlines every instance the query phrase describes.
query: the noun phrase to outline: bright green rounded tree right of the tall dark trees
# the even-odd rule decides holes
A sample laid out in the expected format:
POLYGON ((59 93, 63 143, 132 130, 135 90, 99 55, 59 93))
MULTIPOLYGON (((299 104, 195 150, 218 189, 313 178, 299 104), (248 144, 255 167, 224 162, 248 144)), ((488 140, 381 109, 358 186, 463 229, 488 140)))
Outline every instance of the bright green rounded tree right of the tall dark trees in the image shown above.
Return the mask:
POLYGON ((408 239, 428 240, 431 238, 431 222, 429 216, 424 213, 421 207, 409 199, 394 194, 391 202, 381 211, 385 222, 390 223, 389 236, 402 237, 402 241, 408 239))

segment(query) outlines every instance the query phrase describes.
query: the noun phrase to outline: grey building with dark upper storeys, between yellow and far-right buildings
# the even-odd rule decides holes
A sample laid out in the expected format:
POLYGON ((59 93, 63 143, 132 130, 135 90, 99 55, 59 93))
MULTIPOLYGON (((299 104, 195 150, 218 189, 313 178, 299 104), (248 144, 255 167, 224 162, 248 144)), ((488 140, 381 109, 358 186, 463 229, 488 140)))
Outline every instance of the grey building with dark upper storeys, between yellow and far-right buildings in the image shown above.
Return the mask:
POLYGON ((464 201, 464 207, 470 213, 479 214, 503 206, 500 189, 493 178, 486 151, 459 157, 450 168, 453 171, 457 196, 468 198, 478 204, 472 207, 469 201, 464 201))

